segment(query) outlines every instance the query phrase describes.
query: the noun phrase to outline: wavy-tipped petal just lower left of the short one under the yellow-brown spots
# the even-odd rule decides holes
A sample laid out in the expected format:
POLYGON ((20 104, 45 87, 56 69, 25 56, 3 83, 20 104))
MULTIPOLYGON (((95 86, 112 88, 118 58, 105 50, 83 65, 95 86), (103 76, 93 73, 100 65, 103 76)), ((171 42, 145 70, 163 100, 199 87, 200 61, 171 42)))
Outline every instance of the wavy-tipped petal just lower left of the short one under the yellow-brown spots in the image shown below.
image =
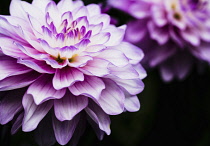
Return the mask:
POLYGON ((32 95, 37 105, 50 99, 60 99, 64 96, 65 92, 66 89, 54 89, 50 75, 42 75, 27 90, 27 94, 32 95))

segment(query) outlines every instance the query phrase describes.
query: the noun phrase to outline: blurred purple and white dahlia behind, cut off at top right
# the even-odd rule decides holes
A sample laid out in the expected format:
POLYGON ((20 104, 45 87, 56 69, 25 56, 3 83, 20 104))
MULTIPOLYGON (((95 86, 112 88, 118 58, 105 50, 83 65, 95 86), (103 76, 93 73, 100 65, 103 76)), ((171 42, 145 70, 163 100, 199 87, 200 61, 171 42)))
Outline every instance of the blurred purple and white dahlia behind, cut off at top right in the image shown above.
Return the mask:
POLYGON ((144 63, 165 81, 183 79, 196 61, 210 62, 209 0, 109 0, 135 18, 126 40, 138 44, 144 63))

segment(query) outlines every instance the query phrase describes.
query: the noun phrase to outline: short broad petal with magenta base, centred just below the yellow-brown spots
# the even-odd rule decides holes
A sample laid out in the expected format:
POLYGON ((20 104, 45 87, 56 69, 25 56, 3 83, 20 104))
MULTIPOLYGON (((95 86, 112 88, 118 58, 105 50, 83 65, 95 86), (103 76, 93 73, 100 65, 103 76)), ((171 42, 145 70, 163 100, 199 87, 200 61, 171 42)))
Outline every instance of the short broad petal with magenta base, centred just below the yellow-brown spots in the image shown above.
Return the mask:
POLYGON ((76 68, 57 69, 53 77, 53 87, 57 90, 69 87, 77 81, 83 81, 84 75, 76 68))

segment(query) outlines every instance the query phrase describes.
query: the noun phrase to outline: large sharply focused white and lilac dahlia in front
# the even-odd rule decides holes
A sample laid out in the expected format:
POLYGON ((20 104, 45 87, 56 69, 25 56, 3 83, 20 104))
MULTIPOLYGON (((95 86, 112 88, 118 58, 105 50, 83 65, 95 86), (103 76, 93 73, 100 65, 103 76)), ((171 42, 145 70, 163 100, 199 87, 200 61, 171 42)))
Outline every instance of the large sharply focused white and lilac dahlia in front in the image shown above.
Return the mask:
POLYGON ((139 110, 146 76, 125 28, 96 4, 12 0, 0 16, 0 123, 35 130, 40 145, 76 142, 86 120, 109 135, 109 115, 139 110))

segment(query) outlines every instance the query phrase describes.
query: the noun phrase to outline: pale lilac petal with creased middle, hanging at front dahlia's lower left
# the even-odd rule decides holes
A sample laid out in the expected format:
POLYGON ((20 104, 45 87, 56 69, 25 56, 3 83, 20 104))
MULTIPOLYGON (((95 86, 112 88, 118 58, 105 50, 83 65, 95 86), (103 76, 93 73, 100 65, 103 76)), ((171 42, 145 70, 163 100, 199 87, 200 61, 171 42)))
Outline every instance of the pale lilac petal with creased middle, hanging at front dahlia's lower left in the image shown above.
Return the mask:
POLYGON ((36 105, 34 103, 33 97, 29 94, 25 94, 23 96, 22 104, 25 111, 22 130, 24 132, 29 132, 36 129, 39 122, 44 118, 44 116, 51 109, 53 102, 48 101, 41 105, 36 105))

